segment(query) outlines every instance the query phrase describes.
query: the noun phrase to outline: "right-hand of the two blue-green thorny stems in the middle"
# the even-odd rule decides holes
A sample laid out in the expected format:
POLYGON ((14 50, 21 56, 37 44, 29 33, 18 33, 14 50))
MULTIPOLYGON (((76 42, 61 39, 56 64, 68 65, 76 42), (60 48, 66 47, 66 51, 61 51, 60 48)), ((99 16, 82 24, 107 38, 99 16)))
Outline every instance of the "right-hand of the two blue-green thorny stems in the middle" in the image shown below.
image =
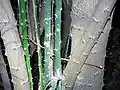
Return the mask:
MULTIPOLYGON (((55 73, 56 77, 61 78, 62 69, 61 69, 61 10, 62 10, 62 0, 55 0, 56 10, 55 10, 55 73)), ((59 81, 57 90, 61 90, 61 81, 59 81)))

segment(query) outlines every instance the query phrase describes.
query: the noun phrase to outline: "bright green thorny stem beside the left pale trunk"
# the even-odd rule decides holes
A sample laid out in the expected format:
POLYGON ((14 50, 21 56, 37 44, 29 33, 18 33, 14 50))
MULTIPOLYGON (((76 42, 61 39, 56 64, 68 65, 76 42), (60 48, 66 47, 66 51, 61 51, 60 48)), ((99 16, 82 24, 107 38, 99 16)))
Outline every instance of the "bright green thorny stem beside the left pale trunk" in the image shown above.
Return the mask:
POLYGON ((30 65, 30 57, 29 57, 29 49, 28 49, 28 40, 27 40, 27 17, 26 17, 26 8, 25 8, 25 0, 18 0, 18 5, 19 5, 19 24, 20 24, 20 30, 22 34, 22 44, 24 48, 24 53, 25 53, 25 62, 26 62, 26 68, 28 72, 28 80, 30 83, 30 90, 33 90, 33 82, 32 82, 32 73, 31 73, 31 65, 30 65))

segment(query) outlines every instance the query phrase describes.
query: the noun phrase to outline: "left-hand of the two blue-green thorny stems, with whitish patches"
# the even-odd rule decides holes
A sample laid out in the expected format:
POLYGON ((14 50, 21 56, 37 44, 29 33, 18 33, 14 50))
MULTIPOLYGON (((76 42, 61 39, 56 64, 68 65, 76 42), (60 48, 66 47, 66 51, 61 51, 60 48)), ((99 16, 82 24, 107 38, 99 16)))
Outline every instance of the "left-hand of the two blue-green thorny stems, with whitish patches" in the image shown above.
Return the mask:
MULTIPOLYGON (((46 86, 50 80, 51 0, 45 0, 44 74, 46 86)), ((45 87, 44 86, 44 87, 45 87)))

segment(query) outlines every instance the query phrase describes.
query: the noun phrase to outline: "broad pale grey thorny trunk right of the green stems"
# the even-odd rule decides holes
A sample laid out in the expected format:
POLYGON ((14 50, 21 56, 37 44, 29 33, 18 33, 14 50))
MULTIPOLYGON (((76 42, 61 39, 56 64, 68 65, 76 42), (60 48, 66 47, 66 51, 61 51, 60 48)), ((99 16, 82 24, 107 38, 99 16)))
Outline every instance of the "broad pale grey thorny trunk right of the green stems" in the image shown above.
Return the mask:
POLYGON ((72 53, 64 70, 66 90, 101 90, 105 47, 111 29, 111 23, 105 23, 115 2, 73 0, 72 53))

